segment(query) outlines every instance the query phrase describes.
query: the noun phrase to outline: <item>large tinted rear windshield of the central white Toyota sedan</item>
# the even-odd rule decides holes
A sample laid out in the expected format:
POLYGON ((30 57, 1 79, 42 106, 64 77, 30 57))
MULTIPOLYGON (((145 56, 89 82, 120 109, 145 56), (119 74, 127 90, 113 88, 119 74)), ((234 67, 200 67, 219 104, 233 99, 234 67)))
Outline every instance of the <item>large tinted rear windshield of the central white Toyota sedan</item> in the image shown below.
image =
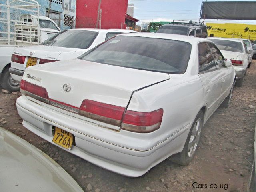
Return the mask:
POLYGON ((79 59, 149 70, 182 74, 190 58, 191 44, 188 42, 158 38, 116 36, 79 59))

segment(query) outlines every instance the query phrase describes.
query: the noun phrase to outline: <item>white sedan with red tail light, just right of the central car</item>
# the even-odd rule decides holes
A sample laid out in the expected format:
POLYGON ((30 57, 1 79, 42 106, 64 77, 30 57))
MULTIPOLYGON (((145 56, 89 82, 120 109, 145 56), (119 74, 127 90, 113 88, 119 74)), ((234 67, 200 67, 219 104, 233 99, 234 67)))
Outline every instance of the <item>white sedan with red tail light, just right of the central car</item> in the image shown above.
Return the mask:
MULTIPOLYGON (((244 75, 250 62, 250 58, 248 58, 249 53, 244 42, 239 39, 218 37, 208 37, 207 39, 216 44, 225 59, 231 60, 236 71, 236 86, 242 86, 244 75)), ((252 51, 250 50, 249 52, 251 53, 252 51)))

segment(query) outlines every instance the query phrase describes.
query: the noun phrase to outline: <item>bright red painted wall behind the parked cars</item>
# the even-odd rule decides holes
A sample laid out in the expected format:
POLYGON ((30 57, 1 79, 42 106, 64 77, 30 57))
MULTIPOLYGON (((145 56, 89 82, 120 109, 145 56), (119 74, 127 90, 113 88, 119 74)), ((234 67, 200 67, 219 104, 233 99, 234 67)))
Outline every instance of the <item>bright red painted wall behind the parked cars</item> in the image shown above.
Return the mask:
MULTIPOLYGON (((76 0, 76 28, 96 28, 99 1, 76 0)), ((102 0, 101 28, 125 28, 127 6, 128 0, 102 0)))

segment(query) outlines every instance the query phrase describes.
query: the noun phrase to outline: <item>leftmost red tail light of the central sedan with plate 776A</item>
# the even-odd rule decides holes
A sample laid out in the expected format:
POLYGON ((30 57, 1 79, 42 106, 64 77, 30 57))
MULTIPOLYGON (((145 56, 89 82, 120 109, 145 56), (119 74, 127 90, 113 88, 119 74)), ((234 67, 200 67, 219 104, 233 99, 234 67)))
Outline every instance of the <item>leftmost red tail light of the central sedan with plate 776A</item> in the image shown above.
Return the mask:
POLYGON ((41 86, 26 82, 22 79, 20 81, 20 92, 26 96, 49 104, 47 90, 41 86))

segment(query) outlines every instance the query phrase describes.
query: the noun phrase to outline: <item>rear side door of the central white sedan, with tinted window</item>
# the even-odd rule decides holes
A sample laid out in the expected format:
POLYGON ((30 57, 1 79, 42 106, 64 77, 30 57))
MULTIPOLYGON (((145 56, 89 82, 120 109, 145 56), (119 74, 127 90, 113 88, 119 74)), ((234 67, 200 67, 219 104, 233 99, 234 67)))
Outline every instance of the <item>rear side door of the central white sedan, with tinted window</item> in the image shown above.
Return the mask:
POLYGON ((204 99, 208 105, 208 114, 212 114, 219 105, 222 78, 217 70, 214 56, 206 42, 198 44, 199 77, 204 87, 204 99))

